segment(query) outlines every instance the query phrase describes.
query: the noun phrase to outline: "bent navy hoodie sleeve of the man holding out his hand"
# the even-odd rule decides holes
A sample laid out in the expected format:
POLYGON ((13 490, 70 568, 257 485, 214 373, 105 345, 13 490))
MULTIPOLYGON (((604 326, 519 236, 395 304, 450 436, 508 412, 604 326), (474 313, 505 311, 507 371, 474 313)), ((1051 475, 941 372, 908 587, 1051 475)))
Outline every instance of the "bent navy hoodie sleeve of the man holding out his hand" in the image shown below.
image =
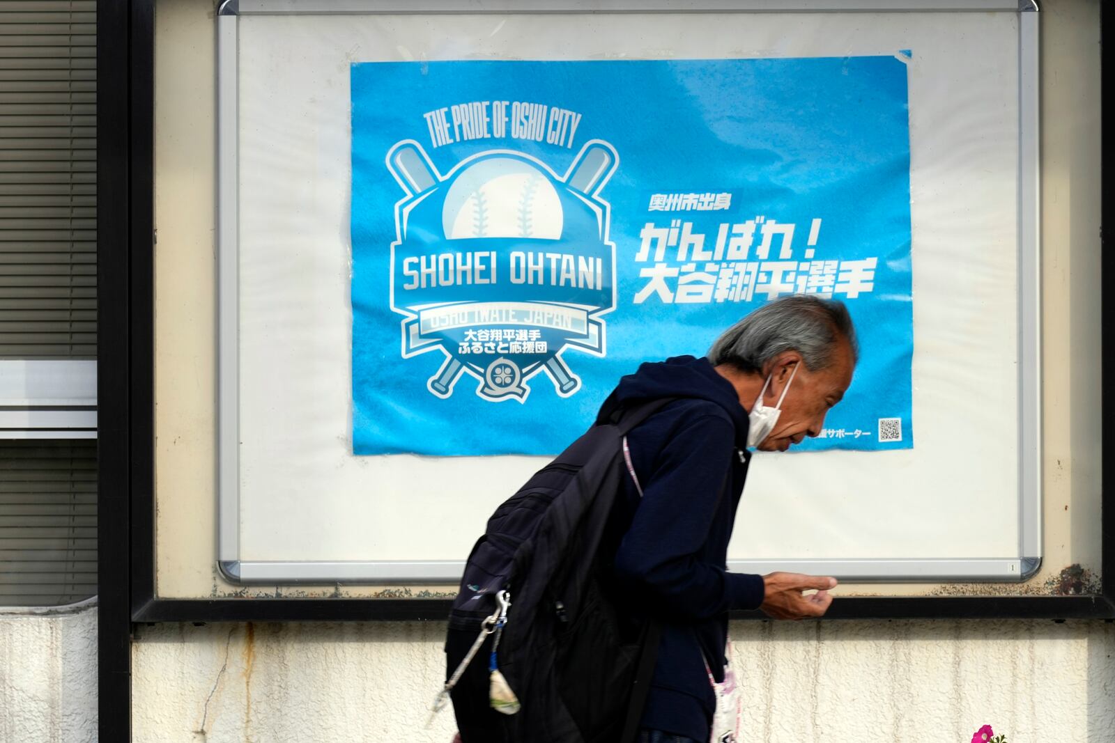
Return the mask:
POLYGON ((763 603, 762 576, 697 558, 730 477, 734 446, 731 423, 720 416, 679 426, 657 457, 617 550, 617 578, 670 616, 701 619, 763 603))

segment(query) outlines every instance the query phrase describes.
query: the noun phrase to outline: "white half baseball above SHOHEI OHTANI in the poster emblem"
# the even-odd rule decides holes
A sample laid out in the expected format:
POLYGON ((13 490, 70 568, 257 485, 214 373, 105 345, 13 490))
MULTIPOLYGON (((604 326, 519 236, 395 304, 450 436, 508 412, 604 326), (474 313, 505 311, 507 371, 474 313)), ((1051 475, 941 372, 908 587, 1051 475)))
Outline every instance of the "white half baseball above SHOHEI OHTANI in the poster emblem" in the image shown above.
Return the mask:
POLYGON ((533 165, 511 157, 467 166, 449 186, 442 213, 448 239, 560 239, 562 221, 561 199, 550 179, 533 165))

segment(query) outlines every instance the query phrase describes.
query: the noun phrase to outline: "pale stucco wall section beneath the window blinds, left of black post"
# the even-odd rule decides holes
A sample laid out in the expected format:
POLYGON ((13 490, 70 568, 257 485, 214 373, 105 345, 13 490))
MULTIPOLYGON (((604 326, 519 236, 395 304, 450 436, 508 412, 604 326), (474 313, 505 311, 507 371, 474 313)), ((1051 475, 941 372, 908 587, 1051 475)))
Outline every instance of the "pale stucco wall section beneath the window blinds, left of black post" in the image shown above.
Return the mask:
POLYGON ((96 740, 96 600, 0 608, 0 743, 96 740))

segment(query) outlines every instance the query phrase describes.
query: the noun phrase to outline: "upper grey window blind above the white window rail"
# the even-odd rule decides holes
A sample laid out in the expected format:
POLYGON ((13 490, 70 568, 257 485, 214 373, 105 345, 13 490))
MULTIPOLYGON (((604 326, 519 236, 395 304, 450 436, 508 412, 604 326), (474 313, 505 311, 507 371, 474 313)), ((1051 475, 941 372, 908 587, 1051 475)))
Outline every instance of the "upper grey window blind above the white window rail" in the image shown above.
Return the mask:
POLYGON ((96 3, 0 2, 0 359, 94 359, 96 3))

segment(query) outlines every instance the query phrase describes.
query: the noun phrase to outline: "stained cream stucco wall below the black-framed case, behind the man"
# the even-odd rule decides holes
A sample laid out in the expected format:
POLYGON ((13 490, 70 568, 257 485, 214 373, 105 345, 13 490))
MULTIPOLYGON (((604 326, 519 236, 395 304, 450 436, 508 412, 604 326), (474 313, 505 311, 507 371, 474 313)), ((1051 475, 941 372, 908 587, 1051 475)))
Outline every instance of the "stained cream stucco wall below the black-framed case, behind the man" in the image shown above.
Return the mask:
MULTIPOLYGON (((448 743, 426 729, 440 623, 161 625, 133 655, 135 740, 448 743)), ((1115 625, 762 622, 731 627, 744 741, 1115 740, 1115 625)))

